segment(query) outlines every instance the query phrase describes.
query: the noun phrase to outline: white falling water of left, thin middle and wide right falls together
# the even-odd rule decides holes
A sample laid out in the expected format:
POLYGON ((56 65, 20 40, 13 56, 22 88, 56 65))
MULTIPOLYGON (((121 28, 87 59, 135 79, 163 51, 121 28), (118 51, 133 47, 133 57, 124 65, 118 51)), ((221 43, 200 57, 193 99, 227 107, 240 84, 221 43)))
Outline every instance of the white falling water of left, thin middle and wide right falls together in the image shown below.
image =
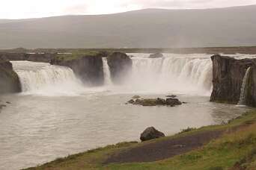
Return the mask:
MULTIPOLYGON (((129 54, 132 70, 124 83, 112 83, 106 57, 103 57, 104 86, 85 88, 63 66, 49 63, 15 61, 13 68, 22 82, 22 91, 39 95, 80 95, 87 92, 112 93, 181 93, 210 95, 212 90, 212 62, 210 54, 164 54, 162 58, 148 58, 150 54, 129 54)), ((237 54, 233 57, 255 57, 237 54)))

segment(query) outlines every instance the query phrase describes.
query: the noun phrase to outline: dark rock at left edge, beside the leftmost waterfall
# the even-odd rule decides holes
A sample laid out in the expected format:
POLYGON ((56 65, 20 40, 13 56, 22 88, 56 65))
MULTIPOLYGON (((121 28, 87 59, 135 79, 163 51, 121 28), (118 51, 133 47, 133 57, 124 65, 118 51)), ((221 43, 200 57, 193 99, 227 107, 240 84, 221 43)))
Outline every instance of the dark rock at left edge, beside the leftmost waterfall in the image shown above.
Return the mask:
POLYGON ((0 57, 0 94, 9 92, 21 92, 19 77, 10 61, 0 57))

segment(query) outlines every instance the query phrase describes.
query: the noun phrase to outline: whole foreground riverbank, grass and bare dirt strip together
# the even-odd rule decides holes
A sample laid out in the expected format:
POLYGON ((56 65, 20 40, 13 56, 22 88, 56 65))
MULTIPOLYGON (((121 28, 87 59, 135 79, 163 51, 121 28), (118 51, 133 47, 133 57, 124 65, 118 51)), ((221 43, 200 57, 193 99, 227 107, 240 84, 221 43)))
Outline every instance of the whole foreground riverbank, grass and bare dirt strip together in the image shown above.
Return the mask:
POLYGON ((183 130, 174 136, 155 139, 149 142, 123 142, 108 145, 81 154, 60 158, 43 166, 31 169, 255 169, 256 167, 256 111, 243 114, 225 125, 214 125, 198 129, 183 130), (198 138, 198 136, 201 136, 198 138), (205 137, 208 136, 208 137, 205 137), (195 145, 188 145, 189 141, 195 145), (200 140, 202 139, 202 140, 200 140), (175 143, 174 141, 183 142, 175 143), (209 142, 210 141, 210 142, 209 142), (163 157, 158 153, 163 143, 165 151, 179 150, 163 157), (198 145, 196 145, 198 144, 198 145), (155 146, 156 148, 153 148, 155 146), (166 145, 168 146, 168 145, 166 145), (174 147, 175 146, 175 147, 174 147), (186 148, 191 146, 190 148, 186 148), (186 150, 186 151, 185 151, 186 150), (141 157, 129 156, 140 151, 141 157), (143 155, 151 151, 152 160, 143 160, 143 155), (115 159, 114 159, 115 158, 115 159), (156 159, 157 158, 157 159, 156 159), (138 160, 136 160, 138 159, 138 160), (157 161, 154 161, 157 160, 157 161))

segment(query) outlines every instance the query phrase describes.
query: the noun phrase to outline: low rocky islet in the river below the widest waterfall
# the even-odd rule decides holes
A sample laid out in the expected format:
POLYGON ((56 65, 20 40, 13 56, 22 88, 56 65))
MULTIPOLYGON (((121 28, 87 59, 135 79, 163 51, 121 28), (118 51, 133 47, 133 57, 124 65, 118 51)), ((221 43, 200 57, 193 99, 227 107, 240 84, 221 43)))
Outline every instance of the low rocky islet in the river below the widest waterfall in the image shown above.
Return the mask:
POLYGON ((137 98, 128 101, 128 104, 141 105, 141 106, 170 106, 175 107, 184 102, 179 101, 177 98, 137 98))

